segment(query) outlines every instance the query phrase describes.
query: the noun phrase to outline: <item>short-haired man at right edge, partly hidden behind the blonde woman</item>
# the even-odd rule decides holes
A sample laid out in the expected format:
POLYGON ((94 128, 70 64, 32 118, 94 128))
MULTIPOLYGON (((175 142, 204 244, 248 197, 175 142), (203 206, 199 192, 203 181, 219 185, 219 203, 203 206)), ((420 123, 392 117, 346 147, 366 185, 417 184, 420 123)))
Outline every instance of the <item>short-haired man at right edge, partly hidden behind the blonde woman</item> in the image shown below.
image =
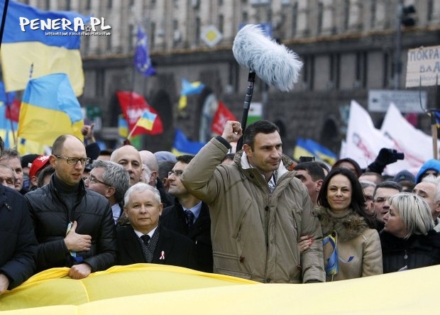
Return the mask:
POLYGON ((434 221, 434 230, 440 232, 440 177, 434 175, 423 177, 422 182, 415 185, 412 192, 427 201, 434 221))

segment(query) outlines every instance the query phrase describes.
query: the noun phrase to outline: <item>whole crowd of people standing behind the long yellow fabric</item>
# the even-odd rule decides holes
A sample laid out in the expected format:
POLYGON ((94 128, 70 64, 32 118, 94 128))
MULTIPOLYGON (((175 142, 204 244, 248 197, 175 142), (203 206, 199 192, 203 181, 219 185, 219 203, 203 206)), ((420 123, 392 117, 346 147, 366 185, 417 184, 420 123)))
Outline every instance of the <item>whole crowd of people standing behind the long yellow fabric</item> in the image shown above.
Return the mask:
MULTIPOLYGON (((282 153, 270 121, 228 121, 197 155, 100 150, 59 136, 50 155, 0 138, 0 294, 36 272, 72 279, 157 263, 264 283, 348 280, 440 264, 440 161, 383 175, 282 153), (231 154, 231 143, 243 149, 231 154)), ((1 299, 1 297, 0 297, 1 299)))

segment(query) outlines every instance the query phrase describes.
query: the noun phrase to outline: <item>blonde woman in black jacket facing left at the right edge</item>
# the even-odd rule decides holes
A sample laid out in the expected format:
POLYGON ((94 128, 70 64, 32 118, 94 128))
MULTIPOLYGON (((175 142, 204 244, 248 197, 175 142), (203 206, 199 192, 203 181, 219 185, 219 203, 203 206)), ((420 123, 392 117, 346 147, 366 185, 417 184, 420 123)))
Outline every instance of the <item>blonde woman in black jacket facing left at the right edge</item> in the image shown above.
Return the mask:
POLYGON ((440 233, 426 201, 408 192, 395 194, 383 219, 383 273, 440 264, 440 233))

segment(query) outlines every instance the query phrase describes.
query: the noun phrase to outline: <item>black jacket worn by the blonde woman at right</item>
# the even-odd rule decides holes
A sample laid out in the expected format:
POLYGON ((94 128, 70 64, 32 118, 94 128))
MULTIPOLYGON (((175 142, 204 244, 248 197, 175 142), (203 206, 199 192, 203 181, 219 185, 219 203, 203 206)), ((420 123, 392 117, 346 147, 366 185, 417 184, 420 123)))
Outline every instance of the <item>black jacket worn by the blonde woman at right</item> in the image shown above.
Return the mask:
POLYGON ((434 230, 429 231, 427 236, 414 234, 407 240, 385 231, 380 232, 379 236, 383 273, 440 264, 440 233, 434 230))

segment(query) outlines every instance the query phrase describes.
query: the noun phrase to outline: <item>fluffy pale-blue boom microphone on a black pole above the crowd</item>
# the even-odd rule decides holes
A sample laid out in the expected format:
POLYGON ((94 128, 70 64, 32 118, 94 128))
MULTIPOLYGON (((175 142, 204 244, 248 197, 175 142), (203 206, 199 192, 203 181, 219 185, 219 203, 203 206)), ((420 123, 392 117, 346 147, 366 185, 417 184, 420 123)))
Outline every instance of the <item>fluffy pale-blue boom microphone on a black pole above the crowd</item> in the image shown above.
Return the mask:
MULTIPOLYGON (((241 118, 241 128, 244 133, 251 106, 255 74, 267 84, 288 92, 297 82, 302 61, 298 59, 295 52, 266 37, 260 26, 254 24, 243 26, 238 31, 233 40, 232 52, 237 62, 249 69, 248 90, 241 118)), ((242 145, 243 137, 238 140, 236 151, 241 150, 242 145)))

